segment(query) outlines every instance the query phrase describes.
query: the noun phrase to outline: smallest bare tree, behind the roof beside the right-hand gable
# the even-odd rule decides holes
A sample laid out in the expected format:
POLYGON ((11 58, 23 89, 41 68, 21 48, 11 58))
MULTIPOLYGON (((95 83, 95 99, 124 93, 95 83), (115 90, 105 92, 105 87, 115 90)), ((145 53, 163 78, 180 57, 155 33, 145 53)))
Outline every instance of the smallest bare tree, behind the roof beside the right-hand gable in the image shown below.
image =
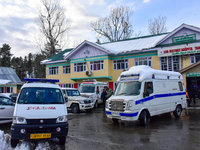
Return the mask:
POLYGON ((165 16, 154 18, 154 20, 149 20, 149 33, 151 35, 160 34, 167 32, 166 27, 167 18, 165 16))

